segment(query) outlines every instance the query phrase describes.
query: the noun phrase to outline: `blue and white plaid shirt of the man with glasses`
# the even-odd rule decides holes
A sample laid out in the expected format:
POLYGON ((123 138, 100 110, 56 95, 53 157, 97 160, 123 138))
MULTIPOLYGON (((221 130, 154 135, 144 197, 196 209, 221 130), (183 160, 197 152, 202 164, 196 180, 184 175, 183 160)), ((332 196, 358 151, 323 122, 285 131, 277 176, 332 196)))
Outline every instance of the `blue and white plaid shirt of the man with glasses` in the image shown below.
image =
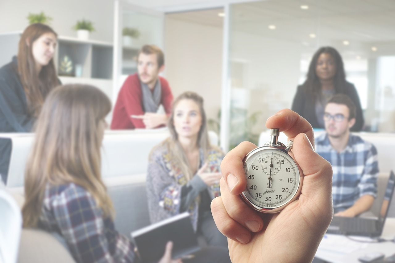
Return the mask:
POLYGON ((333 167, 333 210, 335 213, 354 205, 362 195, 376 197, 377 150, 371 143, 352 135, 342 152, 332 148, 327 133, 316 138, 316 152, 333 167))

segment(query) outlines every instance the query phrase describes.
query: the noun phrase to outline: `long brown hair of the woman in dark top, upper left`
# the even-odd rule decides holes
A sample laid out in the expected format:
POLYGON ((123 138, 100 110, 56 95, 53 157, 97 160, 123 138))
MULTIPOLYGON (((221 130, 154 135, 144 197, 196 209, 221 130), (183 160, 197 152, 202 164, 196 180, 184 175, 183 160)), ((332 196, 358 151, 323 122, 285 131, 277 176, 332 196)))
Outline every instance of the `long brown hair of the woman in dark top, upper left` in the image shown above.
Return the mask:
POLYGON ((58 36, 51 27, 45 24, 31 24, 24 30, 19 40, 18 73, 26 94, 28 115, 34 117, 39 115, 45 97, 51 89, 59 85, 53 58, 41 68, 40 72, 36 69, 32 51, 33 43, 46 33, 58 36))

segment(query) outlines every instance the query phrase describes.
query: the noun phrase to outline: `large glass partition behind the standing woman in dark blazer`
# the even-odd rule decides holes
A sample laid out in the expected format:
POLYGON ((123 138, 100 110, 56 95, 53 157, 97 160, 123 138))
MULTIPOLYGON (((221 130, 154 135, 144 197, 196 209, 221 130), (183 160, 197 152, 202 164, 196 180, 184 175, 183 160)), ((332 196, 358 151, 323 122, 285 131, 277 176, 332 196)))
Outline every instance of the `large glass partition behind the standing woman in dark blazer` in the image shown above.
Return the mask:
POLYGON ((363 130, 395 131, 394 1, 267 0, 231 4, 227 15, 229 101, 222 112, 229 114, 229 132, 221 139, 229 149, 244 140, 257 143, 266 119, 291 108, 322 46, 343 58, 361 101, 363 130))

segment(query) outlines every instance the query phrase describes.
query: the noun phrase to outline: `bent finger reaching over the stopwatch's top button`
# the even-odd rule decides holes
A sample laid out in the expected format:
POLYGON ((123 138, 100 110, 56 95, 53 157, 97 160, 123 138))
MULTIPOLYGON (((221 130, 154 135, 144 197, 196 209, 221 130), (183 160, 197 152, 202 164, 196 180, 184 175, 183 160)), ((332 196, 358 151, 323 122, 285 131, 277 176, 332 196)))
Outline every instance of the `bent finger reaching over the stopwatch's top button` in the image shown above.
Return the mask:
POLYGON ((302 116, 290 109, 282 109, 275 115, 269 117, 266 121, 266 127, 269 129, 279 128, 289 139, 293 140, 299 133, 305 133, 314 146, 314 131, 311 124, 302 116))

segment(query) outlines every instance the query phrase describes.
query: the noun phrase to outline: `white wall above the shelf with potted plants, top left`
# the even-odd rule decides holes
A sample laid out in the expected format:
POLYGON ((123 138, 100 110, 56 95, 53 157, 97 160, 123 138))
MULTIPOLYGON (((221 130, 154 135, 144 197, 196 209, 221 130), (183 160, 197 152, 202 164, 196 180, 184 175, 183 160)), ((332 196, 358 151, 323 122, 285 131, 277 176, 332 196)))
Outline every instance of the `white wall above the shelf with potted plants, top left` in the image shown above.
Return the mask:
POLYGON ((23 31, 29 13, 52 17, 51 27, 61 36, 77 36, 72 29, 77 20, 93 23, 90 39, 113 41, 113 0, 0 0, 0 33, 23 31))

